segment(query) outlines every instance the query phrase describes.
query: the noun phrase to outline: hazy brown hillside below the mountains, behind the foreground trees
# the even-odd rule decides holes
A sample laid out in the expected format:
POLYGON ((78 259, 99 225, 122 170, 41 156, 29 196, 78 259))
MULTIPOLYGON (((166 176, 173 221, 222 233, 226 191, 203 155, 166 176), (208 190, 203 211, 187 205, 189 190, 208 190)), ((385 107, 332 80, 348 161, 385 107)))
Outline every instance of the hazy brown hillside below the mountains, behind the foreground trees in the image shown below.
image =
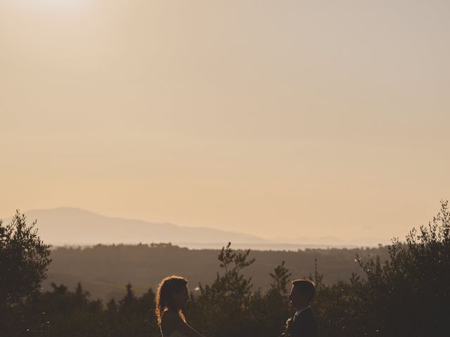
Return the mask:
MULTIPOLYGON (((233 246, 232 246, 233 247, 233 246)), ((218 249, 187 249, 167 244, 98 245, 86 248, 57 247, 51 252, 53 259, 49 267, 49 279, 43 286, 51 289, 51 282, 75 288, 82 282, 84 289, 93 298, 121 298, 125 285, 131 282, 136 294, 152 288, 155 290, 162 277, 181 275, 189 280, 191 291, 199 282, 211 283, 220 272, 217 261, 218 249)), ((269 287, 269 272, 285 260, 293 277, 314 274, 317 259, 323 281, 333 283, 348 279, 352 272, 361 275, 355 261, 356 253, 361 257, 388 256, 385 247, 371 249, 304 249, 302 251, 252 251, 256 262, 247 268, 255 288, 269 287)), ((194 291, 195 295, 195 291, 194 291)))

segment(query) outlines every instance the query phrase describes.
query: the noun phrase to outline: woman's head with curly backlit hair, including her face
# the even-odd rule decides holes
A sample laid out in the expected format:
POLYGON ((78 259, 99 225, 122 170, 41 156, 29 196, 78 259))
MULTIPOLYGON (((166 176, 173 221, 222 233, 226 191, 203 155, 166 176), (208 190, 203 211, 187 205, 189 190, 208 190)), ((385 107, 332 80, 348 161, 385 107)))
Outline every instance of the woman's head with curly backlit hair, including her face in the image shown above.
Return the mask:
POLYGON ((156 317, 158 324, 161 324, 162 314, 166 310, 172 310, 179 313, 184 319, 183 309, 189 300, 188 281, 184 277, 169 276, 161 280, 156 291, 156 317))

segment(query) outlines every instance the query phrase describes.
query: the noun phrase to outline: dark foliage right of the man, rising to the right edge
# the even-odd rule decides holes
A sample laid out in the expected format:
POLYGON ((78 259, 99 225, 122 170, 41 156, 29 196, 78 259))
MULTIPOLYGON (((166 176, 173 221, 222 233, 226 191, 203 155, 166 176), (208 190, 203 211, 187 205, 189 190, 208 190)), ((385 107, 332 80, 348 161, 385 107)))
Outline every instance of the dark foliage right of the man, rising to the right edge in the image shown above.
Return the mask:
POLYGON ((450 212, 406 242, 393 239, 390 257, 357 261, 365 277, 319 284, 315 305, 323 336, 447 336, 450 319, 450 212))

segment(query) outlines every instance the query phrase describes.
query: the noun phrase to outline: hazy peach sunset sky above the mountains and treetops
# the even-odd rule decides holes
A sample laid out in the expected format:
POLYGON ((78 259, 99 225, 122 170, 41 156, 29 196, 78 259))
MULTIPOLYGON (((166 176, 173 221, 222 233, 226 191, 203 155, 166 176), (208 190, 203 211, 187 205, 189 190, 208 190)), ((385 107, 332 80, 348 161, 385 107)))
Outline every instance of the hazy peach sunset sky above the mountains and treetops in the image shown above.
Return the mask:
POLYGON ((0 2, 0 216, 404 237, 450 199, 450 2, 0 2))

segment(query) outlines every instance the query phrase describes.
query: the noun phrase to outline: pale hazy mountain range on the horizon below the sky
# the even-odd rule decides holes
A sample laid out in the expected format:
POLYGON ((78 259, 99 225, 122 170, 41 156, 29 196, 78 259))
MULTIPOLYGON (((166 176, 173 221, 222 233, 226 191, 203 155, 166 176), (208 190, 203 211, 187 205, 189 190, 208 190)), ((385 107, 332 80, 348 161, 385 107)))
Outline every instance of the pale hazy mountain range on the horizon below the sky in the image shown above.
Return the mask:
MULTIPOLYGON (((60 207, 25 212, 31 223, 37 220, 39 236, 44 242, 61 245, 150 244, 171 242, 191 249, 220 248, 232 242, 236 248, 297 250, 305 247, 375 246, 372 242, 346 242, 335 237, 262 239, 255 235, 207 227, 184 227, 172 223, 111 218, 83 209, 60 207)), ((10 218, 4 219, 9 223, 10 218)), ((383 242, 384 243, 384 242, 383 242)))

